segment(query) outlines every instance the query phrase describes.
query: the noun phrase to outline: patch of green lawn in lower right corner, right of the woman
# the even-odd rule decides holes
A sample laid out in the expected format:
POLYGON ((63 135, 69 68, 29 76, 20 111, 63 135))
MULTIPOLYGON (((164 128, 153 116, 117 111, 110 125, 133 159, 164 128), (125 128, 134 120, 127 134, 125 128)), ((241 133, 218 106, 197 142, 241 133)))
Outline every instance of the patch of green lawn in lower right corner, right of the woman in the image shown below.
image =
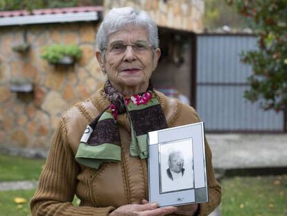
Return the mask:
POLYGON ((287 175, 223 178, 222 215, 287 215, 287 175))

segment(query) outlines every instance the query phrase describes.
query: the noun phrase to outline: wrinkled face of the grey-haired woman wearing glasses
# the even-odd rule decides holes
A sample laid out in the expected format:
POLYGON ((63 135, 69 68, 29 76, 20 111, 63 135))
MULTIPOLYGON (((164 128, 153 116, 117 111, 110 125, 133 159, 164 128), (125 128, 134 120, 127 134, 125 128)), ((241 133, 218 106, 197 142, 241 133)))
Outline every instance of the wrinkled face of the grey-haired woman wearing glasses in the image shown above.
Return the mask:
POLYGON ((129 26, 109 36, 102 65, 112 85, 133 87, 148 83, 159 56, 146 30, 129 26))

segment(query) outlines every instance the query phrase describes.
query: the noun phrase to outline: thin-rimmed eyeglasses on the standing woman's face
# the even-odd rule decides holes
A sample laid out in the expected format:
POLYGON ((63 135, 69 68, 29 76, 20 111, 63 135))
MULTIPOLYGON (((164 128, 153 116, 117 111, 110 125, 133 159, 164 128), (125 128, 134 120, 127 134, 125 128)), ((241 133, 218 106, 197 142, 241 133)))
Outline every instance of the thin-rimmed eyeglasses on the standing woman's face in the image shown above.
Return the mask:
POLYGON ((123 43, 111 44, 110 47, 107 49, 107 51, 114 54, 121 54, 125 52, 128 46, 131 46, 134 52, 136 53, 148 51, 150 47, 155 49, 153 45, 148 45, 146 42, 137 42, 135 44, 123 44, 123 43))

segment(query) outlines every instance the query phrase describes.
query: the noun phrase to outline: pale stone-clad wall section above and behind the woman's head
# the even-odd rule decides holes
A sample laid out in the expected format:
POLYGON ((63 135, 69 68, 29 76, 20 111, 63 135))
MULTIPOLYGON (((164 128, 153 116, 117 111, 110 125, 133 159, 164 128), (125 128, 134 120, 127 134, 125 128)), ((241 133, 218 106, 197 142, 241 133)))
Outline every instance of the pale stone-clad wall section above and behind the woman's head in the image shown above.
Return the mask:
POLYGON ((158 26, 201 33, 203 0, 105 0, 104 13, 111 8, 131 6, 150 13, 158 26))

